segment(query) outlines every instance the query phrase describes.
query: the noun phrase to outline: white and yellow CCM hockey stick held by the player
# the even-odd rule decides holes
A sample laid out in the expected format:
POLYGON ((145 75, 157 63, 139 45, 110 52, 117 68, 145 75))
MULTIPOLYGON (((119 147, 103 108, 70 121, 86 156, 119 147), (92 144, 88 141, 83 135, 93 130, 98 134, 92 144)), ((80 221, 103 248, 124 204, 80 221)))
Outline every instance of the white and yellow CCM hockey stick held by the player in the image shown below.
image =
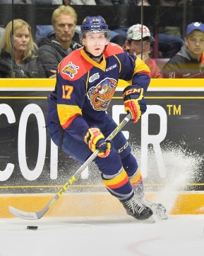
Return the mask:
MULTIPOLYGON (((124 120, 121 121, 121 123, 119 123, 119 126, 117 126, 114 129, 114 131, 107 137, 106 140, 112 140, 112 138, 114 138, 114 136, 117 133, 119 133, 119 131, 126 125, 126 123, 128 123, 130 119, 131 119, 131 114, 128 113, 126 118, 124 118, 124 120)), ((56 200, 59 199, 59 197, 62 194, 64 194, 64 192, 73 184, 73 182, 76 181, 77 177, 83 172, 85 167, 87 167, 90 164, 90 162, 92 162, 95 159, 95 157, 97 157, 98 152, 99 150, 96 150, 95 152, 92 153, 92 155, 88 158, 88 160, 86 160, 85 163, 78 169, 78 171, 76 171, 76 173, 73 174, 71 179, 68 179, 68 182, 66 182, 66 184, 64 184, 64 186, 61 187, 61 189, 57 192, 54 198, 51 201, 49 201, 47 206, 45 206, 41 211, 36 211, 36 212, 21 211, 21 210, 18 210, 17 208, 14 208, 13 206, 8 206, 9 211, 13 215, 17 216, 18 218, 25 218, 26 220, 37 220, 39 218, 42 218, 42 216, 44 216, 44 214, 47 213, 49 208, 51 208, 51 206, 56 202, 56 200)))

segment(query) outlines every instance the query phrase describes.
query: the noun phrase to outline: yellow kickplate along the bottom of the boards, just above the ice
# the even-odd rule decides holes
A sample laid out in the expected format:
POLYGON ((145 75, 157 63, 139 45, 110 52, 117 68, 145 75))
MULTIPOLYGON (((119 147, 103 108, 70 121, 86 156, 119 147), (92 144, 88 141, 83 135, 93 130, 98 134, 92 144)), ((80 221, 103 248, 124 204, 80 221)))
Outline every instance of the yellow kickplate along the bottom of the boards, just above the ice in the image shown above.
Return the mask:
MULTIPOLYGON (((40 211, 46 206, 54 194, 37 195, 1 195, 0 218, 13 218, 8 206, 22 211, 40 211)), ((147 194, 149 200, 154 200, 157 194, 147 194)), ((178 194, 171 215, 204 214, 204 193, 178 194)), ((126 212, 118 199, 109 193, 71 193, 64 194, 56 201, 44 217, 124 217, 126 212)))

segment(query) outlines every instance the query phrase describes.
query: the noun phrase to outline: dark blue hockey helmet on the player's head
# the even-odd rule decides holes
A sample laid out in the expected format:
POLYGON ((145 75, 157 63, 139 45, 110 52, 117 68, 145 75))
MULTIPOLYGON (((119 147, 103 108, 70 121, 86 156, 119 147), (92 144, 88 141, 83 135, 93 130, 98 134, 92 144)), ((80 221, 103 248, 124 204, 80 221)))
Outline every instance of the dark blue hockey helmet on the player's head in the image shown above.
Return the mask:
POLYGON ((110 40, 110 32, 106 21, 102 16, 87 16, 80 26, 80 43, 85 38, 85 33, 105 33, 107 40, 110 40))

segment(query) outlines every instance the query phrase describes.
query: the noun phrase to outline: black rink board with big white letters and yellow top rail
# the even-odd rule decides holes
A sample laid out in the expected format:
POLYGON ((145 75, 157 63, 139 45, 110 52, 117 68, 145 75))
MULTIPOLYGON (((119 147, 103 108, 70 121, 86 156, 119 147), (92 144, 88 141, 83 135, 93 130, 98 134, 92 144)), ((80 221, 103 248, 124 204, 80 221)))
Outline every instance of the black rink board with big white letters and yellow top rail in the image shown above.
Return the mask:
MULTIPOLYGON (((63 152, 57 152, 44 128, 47 118, 47 94, 54 89, 54 85, 55 79, 0 79, 0 194, 54 193, 79 167, 63 152), (7 118, 4 115, 5 110, 7 118), (21 144, 18 145, 18 142, 21 144), (69 169, 65 168, 65 162, 68 163, 69 169)), ((121 97, 123 89, 124 84, 119 83, 108 108, 116 123, 125 115, 121 97)), ((169 175, 178 173, 177 169, 181 169, 180 166, 176 167, 177 152, 173 157, 175 159, 172 158, 175 166, 172 168, 169 165, 172 165, 172 162, 167 162, 169 145, 173 152, 180 147, 180 156, 183 157, 184 163, 192 162, 193 157, 193 165, 198 168, 197 177, 195 175, 184 190, 204 190, 203 172, 200 175, 204 153, 203 89, 203 79, 152 79, 145 95, 150 111, 145 113, 136 125, 129 123, 124 128, 124 134, 130 138, 133 154, 140 164, 147 191, 159 191, 168 182, 169 175), (148 129, 146 134, 142 135, 142 127, 147 121, 148 129), (167 131, 164 127, 167 127, 167 131), (163 140, 160 130, 165 133, 163 140), (150 135, 147 136, 147 133, 150 135), (151 139, 151 135, 156 135, 157 139, 162 140, 160 148, 157 148, 161 154, 156 157, 152 149, 143 150, 148 151, 148 155, 140 152, 141 148, 149 147, 148 140, 143 139, 141 143, 142 136, 151 139), (172 144, 168 144, 169 141, 172 144), (186 152, 188 155, 185 155, 186 152), (144 165, 149 159, 151 162, 144 165)), ((85 179, 80 179, 76 186, 70 188, 72 193, 95 193, 104 190, 100 172, 95 167, 91 165, 85 176, 85 179)))

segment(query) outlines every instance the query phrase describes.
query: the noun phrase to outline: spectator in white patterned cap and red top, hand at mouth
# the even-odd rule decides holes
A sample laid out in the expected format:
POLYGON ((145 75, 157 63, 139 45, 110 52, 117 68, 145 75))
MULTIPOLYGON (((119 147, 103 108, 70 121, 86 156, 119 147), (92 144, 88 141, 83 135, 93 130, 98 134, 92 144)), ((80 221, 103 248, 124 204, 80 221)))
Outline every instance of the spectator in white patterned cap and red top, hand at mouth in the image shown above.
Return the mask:
POLYGON ((150 58, 150 40, 155 41, 155 38, 150 35, 148 27, 142 26, 141 24, 133 25, 128 28, 124 50, 129 54, 140 57, 148 65, 151 78, 162 78, 162 74, 155 60, 150 58))

